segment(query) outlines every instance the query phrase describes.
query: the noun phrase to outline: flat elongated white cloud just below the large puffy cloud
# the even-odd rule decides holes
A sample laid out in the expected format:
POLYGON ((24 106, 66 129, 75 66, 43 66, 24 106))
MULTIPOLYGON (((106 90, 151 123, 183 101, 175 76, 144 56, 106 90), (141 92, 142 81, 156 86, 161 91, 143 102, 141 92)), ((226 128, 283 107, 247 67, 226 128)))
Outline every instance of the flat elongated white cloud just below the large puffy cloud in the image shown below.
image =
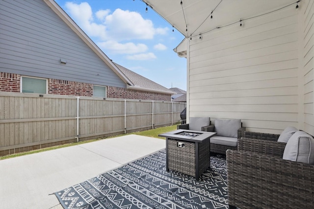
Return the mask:
POLYGON ((97 45, 101 48, 108 49, 117 54, 136 54, 148 50, 148 47, 145 44, 134 44, 131 42, 121 44, 116 41, 107 41, 98 43, 97 45))

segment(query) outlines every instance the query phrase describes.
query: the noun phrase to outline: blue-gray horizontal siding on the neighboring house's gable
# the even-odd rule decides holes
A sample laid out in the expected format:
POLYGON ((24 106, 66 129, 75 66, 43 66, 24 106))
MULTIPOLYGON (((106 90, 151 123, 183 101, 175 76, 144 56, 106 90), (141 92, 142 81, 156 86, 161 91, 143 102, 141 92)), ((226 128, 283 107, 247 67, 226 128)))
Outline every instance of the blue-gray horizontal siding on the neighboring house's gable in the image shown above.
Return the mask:
POLYGON ((0 28, 2 72, 126 88, 43 0, 1 0, 0 28))

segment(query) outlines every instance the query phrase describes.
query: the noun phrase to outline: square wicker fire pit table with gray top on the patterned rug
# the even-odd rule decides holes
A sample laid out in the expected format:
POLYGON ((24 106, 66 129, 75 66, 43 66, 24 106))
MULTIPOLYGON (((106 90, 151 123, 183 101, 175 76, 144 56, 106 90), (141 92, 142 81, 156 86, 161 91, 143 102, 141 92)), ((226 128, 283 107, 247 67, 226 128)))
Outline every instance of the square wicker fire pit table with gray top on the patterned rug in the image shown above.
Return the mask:
POLYGON ((197 180, 210 166, 210 137, 214 132, 179 129, 159 137, 166 138, 166 169, 194 176, 197 180))

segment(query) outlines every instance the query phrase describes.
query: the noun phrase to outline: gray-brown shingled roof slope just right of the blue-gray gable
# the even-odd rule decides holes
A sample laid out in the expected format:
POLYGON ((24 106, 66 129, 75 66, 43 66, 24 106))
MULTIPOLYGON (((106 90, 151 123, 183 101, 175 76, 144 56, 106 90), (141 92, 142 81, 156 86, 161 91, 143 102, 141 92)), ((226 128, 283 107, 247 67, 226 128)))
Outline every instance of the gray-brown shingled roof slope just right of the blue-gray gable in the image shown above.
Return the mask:
POLYGON ((114 63, 114 64, 134 84, 134 86, 129 87, 129 89, 141 90, 141 91, 154 91, 154 92, 160 92, 160 93, 166 93, 166 94, 173 94, 174 93, 174 92, 170 91, 169 89, 155 83, 154 81, 152 81, 148 78, 145 78, 145 77, 117 64, 117 63, 114 63))

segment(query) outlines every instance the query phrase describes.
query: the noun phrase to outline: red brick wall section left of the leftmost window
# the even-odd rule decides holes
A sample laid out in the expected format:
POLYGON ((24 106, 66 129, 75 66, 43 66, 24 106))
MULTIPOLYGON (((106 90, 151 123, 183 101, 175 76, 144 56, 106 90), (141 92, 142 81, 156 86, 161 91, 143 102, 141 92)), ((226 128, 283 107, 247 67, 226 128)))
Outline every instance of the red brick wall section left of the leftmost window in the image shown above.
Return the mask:
POLYGON ((0 72, 0 92, 20 92, 21 75, 0 72))

